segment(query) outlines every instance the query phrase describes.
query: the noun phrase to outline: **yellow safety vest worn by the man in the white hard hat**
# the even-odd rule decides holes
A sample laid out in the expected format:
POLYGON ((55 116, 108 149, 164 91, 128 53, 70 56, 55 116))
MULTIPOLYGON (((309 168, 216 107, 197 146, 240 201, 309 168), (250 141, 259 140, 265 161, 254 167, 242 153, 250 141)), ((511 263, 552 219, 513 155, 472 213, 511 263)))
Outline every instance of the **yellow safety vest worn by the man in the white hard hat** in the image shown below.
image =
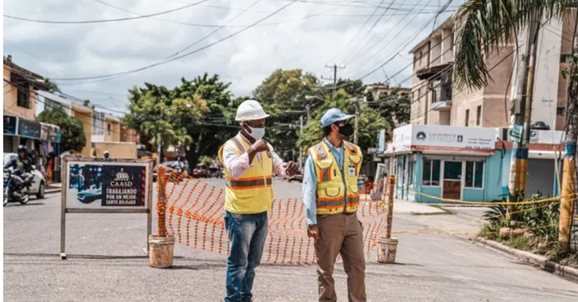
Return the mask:
MULTIPOLYGON (((219 160, 223 163, 223 149, 231 146, 242 155, 249 150, 248 143, 237 135, 229 139, 219 150, 219 160)), ((272 150, 271 146, 269 146, 272 150)), ((273 190, 271 189, 271 175, 273 160, 270 151, 261 152, 261 163, 253 159, 253 165, 240 178, 232 178, 224 167, 226 177, 225 209, 237 214, 263 213, 271 208, 273 190)))

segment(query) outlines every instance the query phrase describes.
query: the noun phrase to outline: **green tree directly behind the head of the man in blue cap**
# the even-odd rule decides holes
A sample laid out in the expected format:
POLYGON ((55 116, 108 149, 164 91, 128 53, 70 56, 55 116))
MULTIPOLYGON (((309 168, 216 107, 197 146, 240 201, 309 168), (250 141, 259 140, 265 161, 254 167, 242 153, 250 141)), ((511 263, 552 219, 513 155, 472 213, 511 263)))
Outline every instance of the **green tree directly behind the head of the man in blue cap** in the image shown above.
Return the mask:
MULTIPOLYGON (((329 108, 336 107, 345 113, 351 114, 355 112, 355 105, 353 102, 350 102, 351 98, 351 95, 345 93, 343 90, 339 90, 335 95, 326 99, 323 105, 314 111, 313 118, 303 128, 303 135, 299 137, 299 148, 301 148, 303 152, 306 152, 308 148, 323 139, 323 130, 321 129, 320 121, 325 111, 329 108)), ((376 109, 370 108, 362 102, 358 120, 358 145, 363 152, 366 152, 367 148, 374 148, 376 146, 377 133, 381 129, 391 129, 389 122, 383 118, 376 109)), ((353 137, 350 138, 350 140, 352 139, 353 137)))

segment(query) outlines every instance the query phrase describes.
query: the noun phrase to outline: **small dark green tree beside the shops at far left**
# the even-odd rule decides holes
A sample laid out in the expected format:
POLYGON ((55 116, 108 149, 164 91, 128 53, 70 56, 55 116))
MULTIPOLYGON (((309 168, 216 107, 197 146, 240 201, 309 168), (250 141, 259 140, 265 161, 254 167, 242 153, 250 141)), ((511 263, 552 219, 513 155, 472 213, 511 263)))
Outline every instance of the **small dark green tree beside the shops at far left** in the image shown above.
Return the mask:
POLYGON ((83 122, 67 115, 61 106, 41 112, 36 119, 61 128, 61 150, 63 152, 70 150, 81 152, 86 146, 83 122))

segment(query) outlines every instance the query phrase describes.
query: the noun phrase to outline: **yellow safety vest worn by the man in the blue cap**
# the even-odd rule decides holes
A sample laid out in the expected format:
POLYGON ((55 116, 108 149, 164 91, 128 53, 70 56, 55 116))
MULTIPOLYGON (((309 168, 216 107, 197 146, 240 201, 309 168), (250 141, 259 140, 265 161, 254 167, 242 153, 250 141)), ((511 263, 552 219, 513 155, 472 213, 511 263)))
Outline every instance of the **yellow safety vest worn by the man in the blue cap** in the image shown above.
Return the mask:
POLYGON ((359 207, 357 179, 363 155, 353 143, 343 141, 343 172, 325 142, 309 149, 317 175, 317 215, 353 213, 359 207))

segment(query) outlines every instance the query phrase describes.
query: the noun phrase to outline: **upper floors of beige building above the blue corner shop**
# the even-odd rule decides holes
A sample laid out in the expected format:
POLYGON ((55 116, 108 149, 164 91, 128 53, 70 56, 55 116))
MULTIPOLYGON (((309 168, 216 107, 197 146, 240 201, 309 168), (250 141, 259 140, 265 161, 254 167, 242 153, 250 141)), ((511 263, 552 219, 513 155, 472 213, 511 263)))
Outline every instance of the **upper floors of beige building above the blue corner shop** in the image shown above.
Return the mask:
MULTIPOLYGON (((491 76, 487 86, 458 89, 452 83, 454 27, 452 16, 410 51, 414 56, 411 124, 509 128, 511 100, 519 97, 515 91, 521 81, 517 79, 524 78, 516 72, 514 41, 486 58, 491 76)), ((568 65, 573 28, 572 19, 565 18, 548 23, 539 34, 532 121, 544 122, 553 130, 564 128, 566 81, 560 73, 568 65)))

